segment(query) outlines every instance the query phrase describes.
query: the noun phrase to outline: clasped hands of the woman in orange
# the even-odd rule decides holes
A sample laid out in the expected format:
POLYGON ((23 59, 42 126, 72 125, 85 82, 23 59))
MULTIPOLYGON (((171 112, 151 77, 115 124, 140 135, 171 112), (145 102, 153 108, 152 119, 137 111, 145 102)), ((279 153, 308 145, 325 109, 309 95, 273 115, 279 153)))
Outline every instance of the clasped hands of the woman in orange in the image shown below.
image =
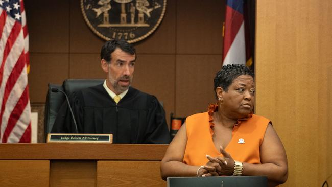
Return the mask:
POLYGON ((208 173, 203 174, 203 176, 219 176, 219 175, 232 175, 234 172, 234 160, 229 153, 227 153, 222 146, 220 146, 220 152, 224 157, 211 157, 206 155, 209 160, 206 165, 204 165, 204 169, 208 171, 208 173))

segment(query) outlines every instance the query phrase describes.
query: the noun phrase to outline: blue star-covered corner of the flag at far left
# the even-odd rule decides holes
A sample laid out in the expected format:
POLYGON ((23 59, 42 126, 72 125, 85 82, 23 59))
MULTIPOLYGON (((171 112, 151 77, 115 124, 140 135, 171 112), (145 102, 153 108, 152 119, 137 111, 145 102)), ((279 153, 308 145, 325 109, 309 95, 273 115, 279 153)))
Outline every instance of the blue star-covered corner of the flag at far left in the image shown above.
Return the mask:
POLYGON ((21 21, 19 0, 0 0, 0 7, 6 10, 7 14, 17 21, 21 21))

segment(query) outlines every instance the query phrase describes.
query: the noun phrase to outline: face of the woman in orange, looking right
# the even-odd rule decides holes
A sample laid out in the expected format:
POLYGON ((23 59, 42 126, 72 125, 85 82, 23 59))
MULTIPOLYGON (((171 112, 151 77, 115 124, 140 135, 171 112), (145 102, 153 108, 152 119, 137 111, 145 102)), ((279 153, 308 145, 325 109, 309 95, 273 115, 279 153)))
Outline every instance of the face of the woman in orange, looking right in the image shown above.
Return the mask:
POLYGON ((218 97, 223 99, 223 104, 220 102, 221 112, 235 119, 246 117, 254 106, 254 92, 255 85, 251 76, 241 75, 235 78, 227 92, 223 90, 219 92, 218 97))

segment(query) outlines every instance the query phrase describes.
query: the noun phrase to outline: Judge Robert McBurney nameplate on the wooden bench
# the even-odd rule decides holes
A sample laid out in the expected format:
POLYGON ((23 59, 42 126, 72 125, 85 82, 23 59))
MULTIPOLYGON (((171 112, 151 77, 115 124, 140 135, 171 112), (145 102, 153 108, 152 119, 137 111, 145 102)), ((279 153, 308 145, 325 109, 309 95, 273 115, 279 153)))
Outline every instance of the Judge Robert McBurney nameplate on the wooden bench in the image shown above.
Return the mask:
POLYGON ((109 143, 113 134, 58 134, 49 133, 46 143, 109 143))

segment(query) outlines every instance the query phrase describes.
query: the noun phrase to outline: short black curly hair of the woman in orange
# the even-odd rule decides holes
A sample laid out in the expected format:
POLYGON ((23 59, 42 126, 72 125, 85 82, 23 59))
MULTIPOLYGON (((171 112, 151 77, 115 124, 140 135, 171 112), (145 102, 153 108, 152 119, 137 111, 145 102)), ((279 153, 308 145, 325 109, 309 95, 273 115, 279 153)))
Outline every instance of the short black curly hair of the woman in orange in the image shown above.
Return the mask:
POLYGON ((228 91, 228 87, 232 84, 233 80, 241 75, 250 75, 254 79, 254 73, 245 65, 240 64, 227 64, 224 65, 219 72, 217 72, 215 77, 215 94, 216 99, 217 87, 222 87, 226 92, 228 91))

